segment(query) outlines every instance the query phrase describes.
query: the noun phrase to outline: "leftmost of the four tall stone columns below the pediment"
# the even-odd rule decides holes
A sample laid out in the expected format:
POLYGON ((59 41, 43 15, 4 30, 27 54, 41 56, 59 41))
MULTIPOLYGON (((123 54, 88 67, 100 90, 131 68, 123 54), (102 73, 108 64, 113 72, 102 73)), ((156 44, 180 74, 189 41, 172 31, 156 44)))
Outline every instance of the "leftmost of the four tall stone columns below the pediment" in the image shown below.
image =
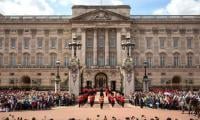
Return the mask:
POLYGON ((82 65, 85 65, 85 43, 86 43, 86 33, 85 33, 85 29, 81 29, 81 56, 80 56, 80 62, 82 65))

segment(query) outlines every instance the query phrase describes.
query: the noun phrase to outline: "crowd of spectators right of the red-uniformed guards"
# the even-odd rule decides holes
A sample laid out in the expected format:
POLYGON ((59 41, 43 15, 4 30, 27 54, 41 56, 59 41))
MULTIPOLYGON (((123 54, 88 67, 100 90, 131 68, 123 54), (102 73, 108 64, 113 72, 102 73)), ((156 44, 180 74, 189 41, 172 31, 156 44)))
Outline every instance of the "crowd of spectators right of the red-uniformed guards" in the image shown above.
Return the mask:
POLYGON ((129 96, 129 102, 141 108, 161 108, 194 111, 200 113, 200 91, 152 91, 134 92, 129 96))

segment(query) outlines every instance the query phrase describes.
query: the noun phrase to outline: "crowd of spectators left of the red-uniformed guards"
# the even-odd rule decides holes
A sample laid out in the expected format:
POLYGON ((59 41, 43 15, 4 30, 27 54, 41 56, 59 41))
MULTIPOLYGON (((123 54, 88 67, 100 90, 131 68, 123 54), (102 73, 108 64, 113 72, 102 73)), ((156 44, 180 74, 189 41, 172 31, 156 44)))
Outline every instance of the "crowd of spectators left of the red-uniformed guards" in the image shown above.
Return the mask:
POLYGON ((0 111, 46 110, 54 106, 75 104, 75 97, 68 92, 1 90, 0 111))

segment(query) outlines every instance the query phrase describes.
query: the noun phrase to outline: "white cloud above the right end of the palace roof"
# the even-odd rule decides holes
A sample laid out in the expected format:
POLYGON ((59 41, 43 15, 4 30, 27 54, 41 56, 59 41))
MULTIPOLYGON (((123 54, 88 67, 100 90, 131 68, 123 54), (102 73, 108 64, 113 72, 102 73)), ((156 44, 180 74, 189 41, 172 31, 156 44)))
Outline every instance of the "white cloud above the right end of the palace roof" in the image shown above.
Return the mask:
POLYGON ((171 0, 165 8, 157 9, 154 15, 199 15, 200 0, 171 0))

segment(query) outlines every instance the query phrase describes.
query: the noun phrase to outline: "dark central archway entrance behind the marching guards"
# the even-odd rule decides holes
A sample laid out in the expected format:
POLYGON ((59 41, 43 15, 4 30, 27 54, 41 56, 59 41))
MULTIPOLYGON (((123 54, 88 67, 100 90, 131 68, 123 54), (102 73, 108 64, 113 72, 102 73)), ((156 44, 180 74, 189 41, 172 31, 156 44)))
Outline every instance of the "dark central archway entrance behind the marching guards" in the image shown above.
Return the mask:
POLYGON ((107 75, 105 73, 98 73, 95 76, 95 85, 97 89, 104 89, 108 86, 107 75))

